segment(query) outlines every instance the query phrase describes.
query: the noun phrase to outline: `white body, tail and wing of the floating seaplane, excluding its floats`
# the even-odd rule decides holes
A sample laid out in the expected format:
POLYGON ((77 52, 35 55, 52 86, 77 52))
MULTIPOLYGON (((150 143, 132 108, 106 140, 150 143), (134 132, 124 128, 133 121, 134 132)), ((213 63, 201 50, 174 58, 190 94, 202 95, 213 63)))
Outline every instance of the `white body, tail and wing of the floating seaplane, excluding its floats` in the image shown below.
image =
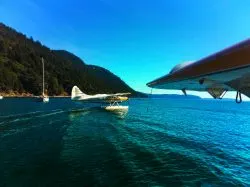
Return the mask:
POLYGON ((126 101, 130 93, 116 93, 116 94, 96 94, 96 95, 87 95, 83 93, 77 86, 74 86, 71 91, 71 99, 74 101, 126 101))

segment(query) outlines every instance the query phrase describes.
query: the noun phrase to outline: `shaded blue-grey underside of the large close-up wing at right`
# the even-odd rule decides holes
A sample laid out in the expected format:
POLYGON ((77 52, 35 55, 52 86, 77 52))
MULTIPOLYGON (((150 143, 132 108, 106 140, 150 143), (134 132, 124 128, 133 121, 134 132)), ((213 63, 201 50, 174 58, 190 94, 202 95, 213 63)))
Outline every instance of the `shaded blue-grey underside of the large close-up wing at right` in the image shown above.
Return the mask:
POLYGON ((210 75, 201 75, 175 81, 157 80, 159 84, 150 87, 170 90, 207 91, 214 98, 220 98, 225 91, 240 91, 250 97, 250 67, 228 70, 210 75))

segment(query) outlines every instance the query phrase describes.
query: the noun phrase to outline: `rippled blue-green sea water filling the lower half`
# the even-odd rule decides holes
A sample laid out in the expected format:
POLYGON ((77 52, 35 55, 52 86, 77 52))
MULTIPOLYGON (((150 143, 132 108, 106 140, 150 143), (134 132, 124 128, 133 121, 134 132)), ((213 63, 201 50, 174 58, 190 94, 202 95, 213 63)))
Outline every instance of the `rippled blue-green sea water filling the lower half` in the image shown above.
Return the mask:
POLYGON ((0 186, 250 186, 250 103, 0 100, 0 186))

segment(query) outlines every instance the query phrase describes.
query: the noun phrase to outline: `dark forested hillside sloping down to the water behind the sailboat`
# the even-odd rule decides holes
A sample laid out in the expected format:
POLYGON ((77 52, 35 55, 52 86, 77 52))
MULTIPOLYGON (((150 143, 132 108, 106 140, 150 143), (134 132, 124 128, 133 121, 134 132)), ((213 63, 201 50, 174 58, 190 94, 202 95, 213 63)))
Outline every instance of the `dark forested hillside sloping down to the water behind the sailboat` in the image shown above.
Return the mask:
POLYGON ((131 92, 138 94, 110 71, 86 65, 64 50, 50 50, 0 23, 0 92, 17 91, 40 95, 42 63, 49 95, 70 94, 74 85, 88 94, 131 92))

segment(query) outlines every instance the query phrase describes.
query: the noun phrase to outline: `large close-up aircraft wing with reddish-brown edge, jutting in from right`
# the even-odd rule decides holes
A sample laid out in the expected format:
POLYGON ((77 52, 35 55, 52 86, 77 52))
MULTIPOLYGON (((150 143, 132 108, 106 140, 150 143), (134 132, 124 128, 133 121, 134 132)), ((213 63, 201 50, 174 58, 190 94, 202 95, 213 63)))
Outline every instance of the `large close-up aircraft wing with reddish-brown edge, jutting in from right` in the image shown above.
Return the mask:
POLYGON ((222 98, 226 91, 250 97, 250 39, 196 62, 175 66, 169 74, 147 83, 151 88, 207 91, 222 98))

